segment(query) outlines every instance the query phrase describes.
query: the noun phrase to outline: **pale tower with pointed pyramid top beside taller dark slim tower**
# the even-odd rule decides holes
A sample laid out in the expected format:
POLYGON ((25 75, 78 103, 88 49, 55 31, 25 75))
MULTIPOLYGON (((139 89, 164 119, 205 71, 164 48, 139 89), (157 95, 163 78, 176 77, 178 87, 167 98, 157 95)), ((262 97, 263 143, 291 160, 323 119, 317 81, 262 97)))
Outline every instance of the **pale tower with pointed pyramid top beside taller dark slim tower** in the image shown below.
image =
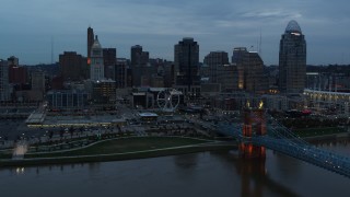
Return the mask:
POLYGON ((104 79, 103 53, 97 36, 91 47, 90 79, 98 81, 104 79))

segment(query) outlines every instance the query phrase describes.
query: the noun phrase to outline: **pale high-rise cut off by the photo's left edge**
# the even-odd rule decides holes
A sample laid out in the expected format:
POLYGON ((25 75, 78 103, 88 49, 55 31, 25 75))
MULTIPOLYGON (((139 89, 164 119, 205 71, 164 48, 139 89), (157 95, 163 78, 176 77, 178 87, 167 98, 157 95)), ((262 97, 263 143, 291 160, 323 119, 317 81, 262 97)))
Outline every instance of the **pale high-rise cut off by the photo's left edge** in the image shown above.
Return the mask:
POLYGON ((9 66, 0 59, 0 101, 10 101, 9 66))

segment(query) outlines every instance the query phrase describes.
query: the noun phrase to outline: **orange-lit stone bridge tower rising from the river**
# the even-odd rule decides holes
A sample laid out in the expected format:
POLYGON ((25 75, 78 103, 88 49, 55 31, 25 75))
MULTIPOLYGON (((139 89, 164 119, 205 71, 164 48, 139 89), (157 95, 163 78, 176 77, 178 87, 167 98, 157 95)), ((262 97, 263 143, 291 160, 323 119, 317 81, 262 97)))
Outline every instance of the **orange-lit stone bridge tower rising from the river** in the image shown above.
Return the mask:
POLYGON ((257 147, 252 144, 250 138, 253 136, 266 135, 266 118, 262 103, 259 108, 245 108, 243 111, 243 139, 240 144, 240 154, 244 159, 265 159, 265 147, 257 147))

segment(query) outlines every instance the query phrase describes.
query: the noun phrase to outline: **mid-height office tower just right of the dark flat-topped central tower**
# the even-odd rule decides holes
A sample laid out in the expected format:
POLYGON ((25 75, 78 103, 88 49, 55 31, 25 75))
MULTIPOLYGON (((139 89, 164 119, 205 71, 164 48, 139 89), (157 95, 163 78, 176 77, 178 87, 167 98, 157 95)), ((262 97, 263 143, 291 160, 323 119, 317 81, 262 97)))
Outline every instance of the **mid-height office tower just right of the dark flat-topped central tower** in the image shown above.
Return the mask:
POLYGON ((205 57, 205 65, 209 67, 209 81, 218 82, 218 67, 229 65, 229 54, 225 51, 211 51, 205 57))

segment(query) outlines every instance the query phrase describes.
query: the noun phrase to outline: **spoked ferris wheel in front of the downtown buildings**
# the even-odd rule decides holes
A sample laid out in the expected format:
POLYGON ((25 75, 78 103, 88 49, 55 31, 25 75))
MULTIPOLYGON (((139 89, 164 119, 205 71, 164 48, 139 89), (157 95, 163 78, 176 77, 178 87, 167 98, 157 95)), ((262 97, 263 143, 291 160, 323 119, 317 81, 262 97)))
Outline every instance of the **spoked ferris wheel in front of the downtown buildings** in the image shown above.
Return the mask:
POLYGON ((163 112, 174 112, 179 104, 179 95, 182 92, 175 89, 166 89, 160 91, 156 96, 158 106, 163 112))

